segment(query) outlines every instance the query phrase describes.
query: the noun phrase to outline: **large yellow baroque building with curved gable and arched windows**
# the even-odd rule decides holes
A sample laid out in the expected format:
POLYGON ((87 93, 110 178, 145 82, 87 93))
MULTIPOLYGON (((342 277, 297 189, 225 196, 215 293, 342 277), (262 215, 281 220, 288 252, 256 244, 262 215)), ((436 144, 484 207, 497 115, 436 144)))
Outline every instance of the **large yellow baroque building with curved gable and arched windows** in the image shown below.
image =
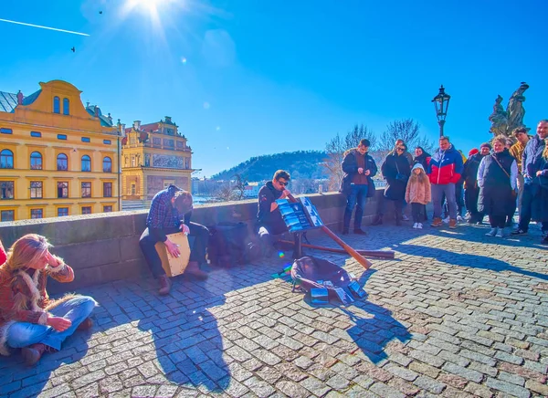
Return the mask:
POLYGON ((119 204, 119 129, 62 80, 0 91, 0 221, 111 212, 119 204))

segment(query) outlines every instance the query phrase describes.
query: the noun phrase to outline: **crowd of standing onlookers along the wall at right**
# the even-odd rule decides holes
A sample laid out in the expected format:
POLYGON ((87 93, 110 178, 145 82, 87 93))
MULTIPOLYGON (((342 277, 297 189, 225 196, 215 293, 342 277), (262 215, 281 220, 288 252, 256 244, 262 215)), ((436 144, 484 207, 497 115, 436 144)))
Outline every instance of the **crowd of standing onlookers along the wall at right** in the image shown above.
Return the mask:
MULTIPOLYGON (((541 120, 536 134, 530 136, 520 127, 512 137, 499 135, 479 149, 469 151, 468 158, 449 141, 439 138, 439 147, 430 155, 422 147, 415 156, 406 143, 395 141, 381 166, 386 181, 385 193, 377 204, 372 225, 385 221, 388 202, 394 204, 395 225, 408 218, 404 213, 411 204, 413 228, 422 229, 427 220, 426 204, 433 202, 431 226, 458 222, 483 224, 489 217, 487 236, 503 237, 513 226, 516 208, 519 224, 511 236, 527 234, 531 221, 542 225, 542 244, 548 245, 548 120, 541 120), (466 215, 463 215, 466 209, 466 215)), ((365 199, 374 194, 372 177, 377 173, 374 159, 368 154, 366 139, 344 153, 341 192, 346 195, 342 235, 349 234, 355 207, 353 233, 364 235, 362 218, 365 199)))

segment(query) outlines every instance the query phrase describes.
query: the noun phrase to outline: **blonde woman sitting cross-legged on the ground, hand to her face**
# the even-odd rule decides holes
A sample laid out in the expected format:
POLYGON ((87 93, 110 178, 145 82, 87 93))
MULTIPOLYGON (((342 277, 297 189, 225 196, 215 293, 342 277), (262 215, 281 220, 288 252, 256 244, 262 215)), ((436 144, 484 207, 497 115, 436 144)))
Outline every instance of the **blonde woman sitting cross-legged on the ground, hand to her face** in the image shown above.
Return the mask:
POLYGON ((27 365, 34 365, 46 351, 58 351, 75 330, 90 329, 91 311, 97 305, 86 296, 47 296, 47 277, 70 282, 74 271, 49 253, 44 236, 19 238, 0 265, 0 354, 21 348, 27 365))

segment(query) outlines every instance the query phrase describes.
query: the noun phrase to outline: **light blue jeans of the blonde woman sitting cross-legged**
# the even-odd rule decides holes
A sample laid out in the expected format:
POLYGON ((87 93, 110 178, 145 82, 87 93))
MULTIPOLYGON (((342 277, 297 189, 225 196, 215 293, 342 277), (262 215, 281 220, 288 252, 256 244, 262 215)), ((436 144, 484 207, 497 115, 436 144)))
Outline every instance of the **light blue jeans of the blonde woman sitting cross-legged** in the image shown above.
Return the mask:
POLYGON ((65 331, 57 331, 51 326, 37 323, 16 322, 7 330, 7 345, 12 348, 23 348, 40 342, 56 350, 61 349, 61 343, 72 335, 82 321, 90 316, 97 302, 88 296, 77 296, 69 299, 49 311, 55 317, 63 317, 72 321, 65 331))

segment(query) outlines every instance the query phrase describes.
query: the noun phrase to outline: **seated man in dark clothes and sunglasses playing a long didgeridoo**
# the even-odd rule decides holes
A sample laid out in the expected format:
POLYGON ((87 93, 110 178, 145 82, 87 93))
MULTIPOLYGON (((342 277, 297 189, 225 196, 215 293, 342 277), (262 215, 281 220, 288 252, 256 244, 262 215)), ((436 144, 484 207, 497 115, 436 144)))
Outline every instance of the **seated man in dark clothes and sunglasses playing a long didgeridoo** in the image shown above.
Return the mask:
POLYGON ((265 183, 258 191, 258 237, 267 255, 273 249, 272 236, 288 231, 276 203, 277 199, 286 199, 290 195, 290 191, 286 189, 288 183, 290 183, 290 173, 278 170, 274 173, 272 181, 265 183))

